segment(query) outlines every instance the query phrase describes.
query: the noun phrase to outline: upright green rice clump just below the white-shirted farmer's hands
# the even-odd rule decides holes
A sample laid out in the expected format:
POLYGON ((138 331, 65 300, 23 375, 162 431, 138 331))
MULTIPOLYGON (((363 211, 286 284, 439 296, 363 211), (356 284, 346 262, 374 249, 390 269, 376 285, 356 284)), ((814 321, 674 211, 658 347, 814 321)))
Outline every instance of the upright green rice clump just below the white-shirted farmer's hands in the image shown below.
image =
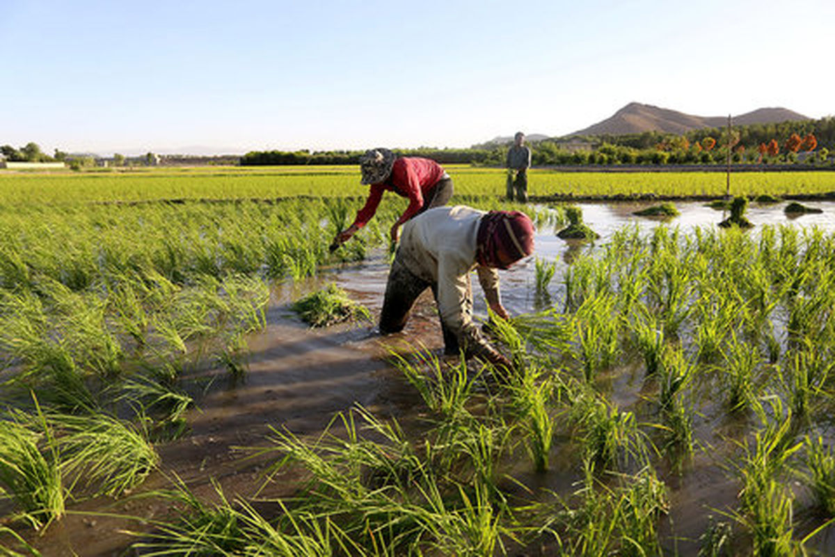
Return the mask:
POLYGON ((544 372, 529 367, 511 387, 514 414, 524 432, 525 448, 536 472, 548 469, 549 453, 554 444, 556 423, 551 416, 549 402, 554 393, 554 382, 544 372))

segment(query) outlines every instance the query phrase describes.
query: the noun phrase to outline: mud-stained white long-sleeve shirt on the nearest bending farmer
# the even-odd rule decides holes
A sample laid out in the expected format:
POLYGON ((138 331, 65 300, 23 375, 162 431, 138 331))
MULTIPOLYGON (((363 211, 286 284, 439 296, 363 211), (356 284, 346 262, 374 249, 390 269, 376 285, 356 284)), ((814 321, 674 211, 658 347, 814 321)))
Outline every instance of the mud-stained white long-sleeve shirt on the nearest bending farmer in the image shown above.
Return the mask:
POLYGON ((475 327, 467 311, 469 272, 476 269, 488 303, 500 303, 498 272, 476 261, 478 225, 484 211, 465 205, 437 207, 403 225, 400 251, 409 271, 438 284, 438 311, 459 336, 475 327))

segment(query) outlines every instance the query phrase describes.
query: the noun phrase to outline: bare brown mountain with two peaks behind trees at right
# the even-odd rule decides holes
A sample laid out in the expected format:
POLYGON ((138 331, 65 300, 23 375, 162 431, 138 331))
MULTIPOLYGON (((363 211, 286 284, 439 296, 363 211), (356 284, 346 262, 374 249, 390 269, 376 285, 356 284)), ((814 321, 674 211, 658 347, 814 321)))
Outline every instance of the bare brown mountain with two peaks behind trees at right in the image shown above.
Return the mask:
MULTIPOLYGON (((777 124, 787 120, 807 119, 789 109, 757 109, 732 116, 731 124, 777 124)), ((630 103, 610 118, 569 135, 642 134, 647 131, 683 134, 691 129, 720 128, 726 124, 726 116, 694 116, 650 104, 630 103)))

